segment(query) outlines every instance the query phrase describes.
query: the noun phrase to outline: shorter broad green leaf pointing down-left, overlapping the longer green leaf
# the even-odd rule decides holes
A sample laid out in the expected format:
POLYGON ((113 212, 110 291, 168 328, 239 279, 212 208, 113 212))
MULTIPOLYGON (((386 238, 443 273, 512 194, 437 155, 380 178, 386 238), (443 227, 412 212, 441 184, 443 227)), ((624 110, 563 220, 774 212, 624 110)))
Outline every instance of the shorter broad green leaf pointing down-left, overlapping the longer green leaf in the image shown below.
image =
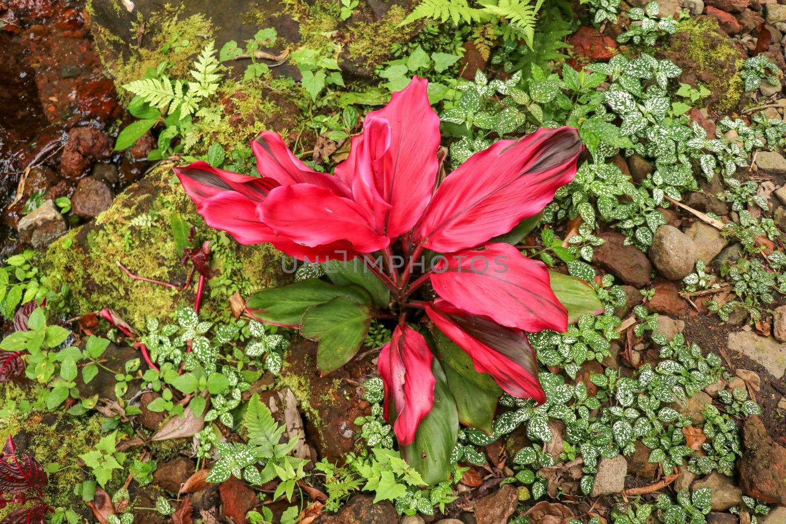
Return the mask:
POLYGON ((317 366, 321 372, 329 373, 354 357, 370 326, 368 306, 336 297, 306 310, 300 321, 300 334, 319 343, 317 366))

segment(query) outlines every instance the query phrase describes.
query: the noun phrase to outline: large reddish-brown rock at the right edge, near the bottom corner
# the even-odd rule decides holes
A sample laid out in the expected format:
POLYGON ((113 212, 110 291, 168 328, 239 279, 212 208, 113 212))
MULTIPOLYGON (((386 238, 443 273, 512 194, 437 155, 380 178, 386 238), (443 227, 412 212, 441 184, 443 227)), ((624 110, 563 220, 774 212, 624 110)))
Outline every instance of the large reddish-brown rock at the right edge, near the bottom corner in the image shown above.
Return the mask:
POLYGON ((743 493, 767 504, 786 504, 786 449, 755 415, 745 420, 742 438, 747 453, 737 461, 737 469, 743 493))

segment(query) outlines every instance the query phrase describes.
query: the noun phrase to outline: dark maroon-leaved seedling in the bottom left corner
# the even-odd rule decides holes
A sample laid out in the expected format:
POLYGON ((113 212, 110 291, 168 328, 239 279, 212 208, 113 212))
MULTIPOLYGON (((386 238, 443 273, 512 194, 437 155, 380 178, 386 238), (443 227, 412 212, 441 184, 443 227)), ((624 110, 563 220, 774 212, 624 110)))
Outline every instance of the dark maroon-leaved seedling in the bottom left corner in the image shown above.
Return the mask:
POLYGON ((34 504, 11 511, 2 524, 43 524, 46 514, 53 512, 42 500, 42 488, 47 482, 46 471, 38 461, 28 453, 17 454, 9 435, 0 453, 0 508, 5 508, 6 504, 34 504), (30 490, 35 491, 32 497, 28 493, 30 490))

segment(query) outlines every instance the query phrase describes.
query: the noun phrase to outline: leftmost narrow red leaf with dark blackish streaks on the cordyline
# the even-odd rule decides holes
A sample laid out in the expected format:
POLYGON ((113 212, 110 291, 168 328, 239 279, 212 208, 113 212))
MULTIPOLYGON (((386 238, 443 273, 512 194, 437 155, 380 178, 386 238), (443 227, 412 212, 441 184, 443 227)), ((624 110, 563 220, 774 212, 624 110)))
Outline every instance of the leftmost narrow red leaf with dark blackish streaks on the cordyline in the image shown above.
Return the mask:
POLYGON ((250 177, 212 167, 207 162, 193 162, 185 167, 174 167, 183 189, 198 206, 211 196, 237 192, 250 200, 261 202, 278 184, 272 178, 250 177))

